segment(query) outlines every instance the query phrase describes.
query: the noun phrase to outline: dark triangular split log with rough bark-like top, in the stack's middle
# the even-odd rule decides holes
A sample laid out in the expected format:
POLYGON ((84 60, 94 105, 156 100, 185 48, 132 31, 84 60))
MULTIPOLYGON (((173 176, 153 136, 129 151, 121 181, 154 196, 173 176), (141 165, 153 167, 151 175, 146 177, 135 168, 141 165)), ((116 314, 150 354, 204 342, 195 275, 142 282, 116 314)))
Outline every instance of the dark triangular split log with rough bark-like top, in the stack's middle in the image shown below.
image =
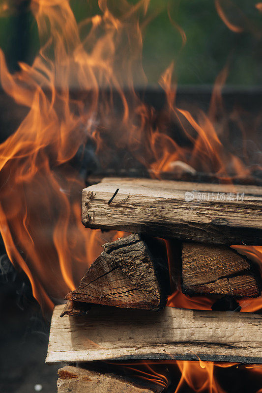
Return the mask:
POLYGON ((104 244, 67 300, 159 311, 167 303, 166 248, 158 239, 129 235, 104 244))

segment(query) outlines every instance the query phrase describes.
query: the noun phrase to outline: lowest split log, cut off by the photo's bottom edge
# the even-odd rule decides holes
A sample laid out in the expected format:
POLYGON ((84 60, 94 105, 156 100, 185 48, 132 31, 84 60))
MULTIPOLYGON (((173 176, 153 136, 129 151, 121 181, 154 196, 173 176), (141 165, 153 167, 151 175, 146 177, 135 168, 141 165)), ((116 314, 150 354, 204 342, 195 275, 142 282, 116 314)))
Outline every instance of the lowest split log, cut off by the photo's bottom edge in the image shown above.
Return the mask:
POLYGON ((161 393, 164 387, 137 378, 123 378, 75 366, 58 370, 58 393, 161 393))

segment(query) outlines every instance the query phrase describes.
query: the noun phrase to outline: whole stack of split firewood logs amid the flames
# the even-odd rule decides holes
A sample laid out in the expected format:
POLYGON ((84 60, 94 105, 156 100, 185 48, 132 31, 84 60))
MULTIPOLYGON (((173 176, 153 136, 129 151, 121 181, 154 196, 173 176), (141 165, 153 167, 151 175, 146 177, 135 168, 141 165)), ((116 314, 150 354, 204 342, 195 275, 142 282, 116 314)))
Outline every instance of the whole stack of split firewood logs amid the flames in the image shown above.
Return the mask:
MULTIPOLYGON (((259 269, 230 247, 262 244, 260 187, 103 179, 83 190, 82 222, 133 234, 105 244, 66 306, 55 308, 47 362, 262 363, 261 316, 226 311, 239 309, 238 298, 261 295, 259 269), (176 269, 163 239, 174 242, 176 269), (208 295, 224 311, 165 307, 174 275, 185 294, 208 295)), ((87 367, 59 373, 60 393, 161 391, 87 367)))

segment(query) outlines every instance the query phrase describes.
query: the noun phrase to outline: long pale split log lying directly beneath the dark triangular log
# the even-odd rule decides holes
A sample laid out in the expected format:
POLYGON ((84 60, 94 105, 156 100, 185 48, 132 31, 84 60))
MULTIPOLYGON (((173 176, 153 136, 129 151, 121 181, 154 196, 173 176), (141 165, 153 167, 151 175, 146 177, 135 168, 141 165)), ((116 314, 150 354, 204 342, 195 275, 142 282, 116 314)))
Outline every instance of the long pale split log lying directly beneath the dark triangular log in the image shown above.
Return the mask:
POLYGON ((262 364, 262 316, 166 307, 159 313, 94 306, 54 309, 46 362, 173 359, 262 364))

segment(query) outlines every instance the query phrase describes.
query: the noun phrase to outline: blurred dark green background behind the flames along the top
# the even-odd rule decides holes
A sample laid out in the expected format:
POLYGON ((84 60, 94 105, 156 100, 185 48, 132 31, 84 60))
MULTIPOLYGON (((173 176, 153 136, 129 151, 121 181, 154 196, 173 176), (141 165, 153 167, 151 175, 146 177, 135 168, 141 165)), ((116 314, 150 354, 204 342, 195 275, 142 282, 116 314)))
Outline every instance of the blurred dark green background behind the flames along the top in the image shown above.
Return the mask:
MULTIPOLYGON (((262 12, 257 2, 220 0, 230 22, 242 29, 235 33, 219 17, 215 0, 151 0, 148 14, 154 18, 144 30, 143 46, 148 83, 157 84, 161 73, 175 60, 179 85, 213 84, 227 62, 228 85, 262 85, 262 12), (186 34, 183 48, 174 23, 186 34)), ((109 1, 114 9, 119 3, 109 1)), ((101 12, 97 0, 72 0, 70 4, 78 21, 101 12)), ((19 68, 18 61, 33 61, 39 39, 28 0, 0 0, 0 47, 11 71, 19 68)))

